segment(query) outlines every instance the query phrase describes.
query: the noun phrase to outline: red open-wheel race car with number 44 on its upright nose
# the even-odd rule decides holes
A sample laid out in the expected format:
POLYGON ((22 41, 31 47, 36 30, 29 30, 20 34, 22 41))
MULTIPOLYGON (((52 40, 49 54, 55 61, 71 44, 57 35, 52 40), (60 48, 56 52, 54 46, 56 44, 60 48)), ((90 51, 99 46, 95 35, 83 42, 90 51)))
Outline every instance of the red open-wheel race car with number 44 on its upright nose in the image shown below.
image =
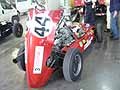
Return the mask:
POLYGON ((28 86, 46 85, 55 70, 61 68, 65 80, 78 80, 83 68, 82 52, 94 39, 94 27, 76 22, 74 15, 61 9, 35 7, 28 16, 25 45, 13 60, 26 71, 28 86))

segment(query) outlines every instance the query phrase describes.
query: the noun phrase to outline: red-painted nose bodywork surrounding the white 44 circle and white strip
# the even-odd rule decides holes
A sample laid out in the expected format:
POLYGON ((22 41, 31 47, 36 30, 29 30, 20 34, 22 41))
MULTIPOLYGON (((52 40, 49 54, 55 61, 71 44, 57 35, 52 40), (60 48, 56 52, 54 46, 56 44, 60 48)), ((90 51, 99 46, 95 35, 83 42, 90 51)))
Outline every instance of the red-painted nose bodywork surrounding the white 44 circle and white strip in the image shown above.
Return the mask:
MULTIPOLYGON (((34 14, 44 13, 46 11, 39 11, 38 9, 31 9, 29 11, 29 19, 30 21, 33 19, 34 14)), ((50 11, 49 16, 52 18, 53 23, 56 25, 60 20, 61 10, 50 11)), ((31 21, 32 22, 32 21, 31 21)), ((54 42, 55 36, 55 25, 53 26, 53 30, 49 36, 45 38, 38 38, 34 36, 28 27, 28 32, 26 34, 25 42, 26 42, 26 69, 27 69, 27 81, 30 87, 41 87, 45 85, 48 79, 51 77, 54 69, 48 68, 46 66, 46 61, 50 56, 51 49, 54 42), (47 43, 46 43, 47 42, 47 43), (44 56, 42 62, 42 72, 41 74, 33 74, 34 67, 34 58, 35 58, 35 47, 36 46, 44 46, 44 56)))

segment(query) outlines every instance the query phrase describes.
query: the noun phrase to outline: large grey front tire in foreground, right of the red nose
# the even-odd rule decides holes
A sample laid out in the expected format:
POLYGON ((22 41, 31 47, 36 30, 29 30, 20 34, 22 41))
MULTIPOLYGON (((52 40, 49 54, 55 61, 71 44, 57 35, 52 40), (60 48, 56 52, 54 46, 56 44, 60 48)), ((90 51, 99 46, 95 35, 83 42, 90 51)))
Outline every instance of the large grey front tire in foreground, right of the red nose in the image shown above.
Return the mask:
POLYGON ((82 69, 83 59, 80 51, 78 49, 69 49, 63 61, 63 75, 65 80, 72 82, 80 79, 82 69))

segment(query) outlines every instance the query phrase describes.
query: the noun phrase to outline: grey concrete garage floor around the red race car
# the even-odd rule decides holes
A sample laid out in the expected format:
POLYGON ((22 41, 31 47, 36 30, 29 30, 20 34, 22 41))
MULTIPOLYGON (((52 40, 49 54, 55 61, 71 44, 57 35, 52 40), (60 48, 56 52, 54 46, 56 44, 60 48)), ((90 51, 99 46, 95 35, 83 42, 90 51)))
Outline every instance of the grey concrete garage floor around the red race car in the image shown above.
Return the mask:
POLYGON ((0 90, 120 90, 120 40, 95 43, 83 55, 81 80, 68 83, 56 73, 44 88, 28 89, 25 73, 12 63, 23 38, 0 41, 0 90))

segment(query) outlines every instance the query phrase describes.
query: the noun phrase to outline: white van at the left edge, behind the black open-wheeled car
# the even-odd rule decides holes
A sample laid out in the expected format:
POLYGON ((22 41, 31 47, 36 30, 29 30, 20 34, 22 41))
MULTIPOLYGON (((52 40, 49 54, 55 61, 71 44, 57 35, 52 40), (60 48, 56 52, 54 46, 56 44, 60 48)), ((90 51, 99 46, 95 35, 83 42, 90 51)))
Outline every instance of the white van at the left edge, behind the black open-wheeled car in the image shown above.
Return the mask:
POLYGON ((17 10, 9 3, 0 1, 0 23, 19 22, 17 10))

